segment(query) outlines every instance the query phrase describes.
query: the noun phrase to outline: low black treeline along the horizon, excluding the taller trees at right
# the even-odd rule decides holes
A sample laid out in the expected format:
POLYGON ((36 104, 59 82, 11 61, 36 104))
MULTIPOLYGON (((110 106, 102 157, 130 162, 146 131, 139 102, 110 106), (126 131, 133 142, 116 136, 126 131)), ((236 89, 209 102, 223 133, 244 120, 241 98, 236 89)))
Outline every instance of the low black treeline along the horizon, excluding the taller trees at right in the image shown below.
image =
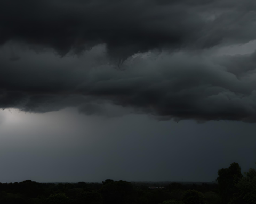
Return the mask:
POLYGON ((216 186, 173 182, 127 182, 107 179, 101 183, 37 183, 26 180, 0 183, 1 204, 159 204, 182 203, 188 189, 215 191, 216 186))

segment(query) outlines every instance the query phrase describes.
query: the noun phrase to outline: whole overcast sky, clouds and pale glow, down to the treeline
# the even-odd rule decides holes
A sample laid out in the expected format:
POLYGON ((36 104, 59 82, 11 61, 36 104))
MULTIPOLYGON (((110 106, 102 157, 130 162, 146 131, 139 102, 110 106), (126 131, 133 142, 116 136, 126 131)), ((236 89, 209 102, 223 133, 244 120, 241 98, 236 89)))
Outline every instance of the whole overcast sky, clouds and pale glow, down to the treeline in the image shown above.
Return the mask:
POLYGON ((254 167, 255 25, 253 0, 0 0, 0 182, 254 167))

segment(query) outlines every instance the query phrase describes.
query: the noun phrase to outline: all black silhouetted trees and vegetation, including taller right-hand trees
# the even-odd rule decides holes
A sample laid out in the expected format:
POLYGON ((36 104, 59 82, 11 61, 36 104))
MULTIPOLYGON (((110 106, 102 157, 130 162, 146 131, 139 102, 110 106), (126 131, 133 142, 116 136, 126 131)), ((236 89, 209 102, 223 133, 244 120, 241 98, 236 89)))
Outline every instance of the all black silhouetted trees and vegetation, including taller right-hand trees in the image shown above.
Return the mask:
POLYGON ((256 170, 241 173, 238 163, 218 171, 217 184, 113 181, 102 183, 0 183, 1 204, 253 204, 256 203, 256 170))

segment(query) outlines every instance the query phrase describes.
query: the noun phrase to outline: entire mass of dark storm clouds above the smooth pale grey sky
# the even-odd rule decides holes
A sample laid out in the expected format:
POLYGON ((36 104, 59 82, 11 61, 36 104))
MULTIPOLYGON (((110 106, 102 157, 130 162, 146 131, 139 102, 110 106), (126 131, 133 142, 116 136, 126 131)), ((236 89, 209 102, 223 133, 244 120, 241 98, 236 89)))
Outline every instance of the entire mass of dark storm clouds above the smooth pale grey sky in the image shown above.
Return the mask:
POLYGON ((256 54, 218 55, 256 38, 235 2, 0 1, 0 107, 256 122, 256 54))

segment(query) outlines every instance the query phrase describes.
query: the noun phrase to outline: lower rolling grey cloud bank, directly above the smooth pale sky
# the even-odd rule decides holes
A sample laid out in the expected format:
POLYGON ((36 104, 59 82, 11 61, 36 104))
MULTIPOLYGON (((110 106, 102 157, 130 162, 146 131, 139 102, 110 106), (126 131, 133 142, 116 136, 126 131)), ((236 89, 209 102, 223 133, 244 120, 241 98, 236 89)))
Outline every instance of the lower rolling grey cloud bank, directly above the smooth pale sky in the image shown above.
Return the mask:
POLYGON ((162 120, 256 121, 255 53, 147 52, 120 70, 102 45, 64 58, 16 47, 18 61, 10 61, 7 50, 0 50, 1 108, 42 113, 76 106, 87 115, 111 116, 116 105, 162 120))

